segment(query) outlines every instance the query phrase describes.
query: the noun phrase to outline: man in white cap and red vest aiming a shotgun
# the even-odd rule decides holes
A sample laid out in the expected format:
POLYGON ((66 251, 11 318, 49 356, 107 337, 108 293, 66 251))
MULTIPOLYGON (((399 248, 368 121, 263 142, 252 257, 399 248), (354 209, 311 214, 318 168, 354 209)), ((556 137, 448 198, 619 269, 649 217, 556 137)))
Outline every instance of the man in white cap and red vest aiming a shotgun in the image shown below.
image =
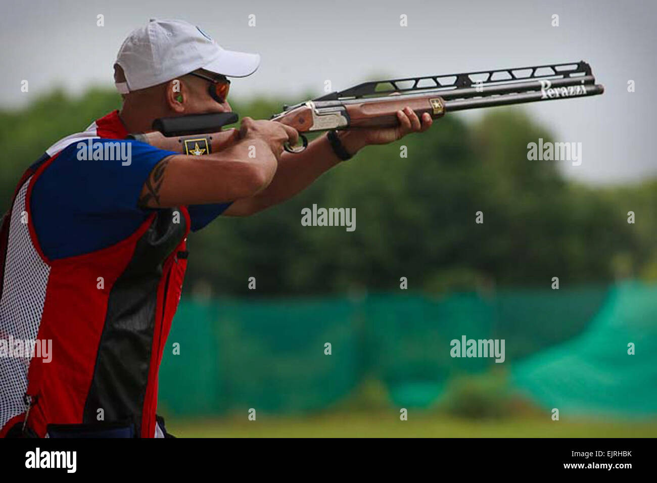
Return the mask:
POLYGON ((323 136, 302 154, 283 151, 298 140, 292 127, 250 118, 206 156, 126 140, 156 118, 229 112, 228 78, 259 62, 187 22, 150 20, 116 59, 121 111, 58 141, 23 175, 0 232, 0 338, 52 341, 52 356, 0 357, 0 436, 164 436, 158 368, 189 231, 282 202, 366 145, 431 125, 407 108, 396 128, 323 136), (88 141, 128 156, 91 156, 88 141))

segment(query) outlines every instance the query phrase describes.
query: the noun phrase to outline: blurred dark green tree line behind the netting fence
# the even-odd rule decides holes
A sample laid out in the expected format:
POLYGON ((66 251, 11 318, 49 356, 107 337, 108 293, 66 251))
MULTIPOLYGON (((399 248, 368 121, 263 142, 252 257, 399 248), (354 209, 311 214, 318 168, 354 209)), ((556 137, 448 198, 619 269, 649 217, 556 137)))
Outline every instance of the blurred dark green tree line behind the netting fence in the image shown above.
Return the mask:
MULTIPOLYGON (((256 99, 233 110, 267 119, 282 104, 256 99)), ((0 111, 0 210, 47 147, 116 108, 116 93, 91 89, 0 111)), ((430 292, 549 287, 552 277, 561 287, 657 279, 657 180, 605 188, 567 181, 558 162, 527 160, 527 144, 539 137, 552 140, 522 108, 497 108, 474 124, 447 116, 425 135, 369 147, 296 198, 249 218, 219 218, 191 236, 185 292, 254 293, 248 277, 258 295, 272 296, 396 290, 400 277, 430 292), (356 208, 355 231, 302 226, 301 210, 313 204, 356 208)))

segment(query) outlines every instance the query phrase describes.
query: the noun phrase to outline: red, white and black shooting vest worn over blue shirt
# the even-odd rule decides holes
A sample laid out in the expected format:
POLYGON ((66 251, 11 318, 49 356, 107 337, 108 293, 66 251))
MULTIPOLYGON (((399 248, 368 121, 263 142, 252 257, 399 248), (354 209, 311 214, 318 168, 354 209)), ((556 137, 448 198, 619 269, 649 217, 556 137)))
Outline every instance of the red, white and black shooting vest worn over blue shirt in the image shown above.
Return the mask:
POLYGON ((0 346, 0 436, 26 413, 40 437, 49 425, 155 434, 158 369, 187 266, 187 208, 157 210, 126 239, 57 260, 41 251, 30 210, 35 181, 62 149, 126 136, 114 111, 55 143, 24 173, 2 220, 0 342, 15 353, 24 341, 52 340, 52 354, 7 357, 0 346))

